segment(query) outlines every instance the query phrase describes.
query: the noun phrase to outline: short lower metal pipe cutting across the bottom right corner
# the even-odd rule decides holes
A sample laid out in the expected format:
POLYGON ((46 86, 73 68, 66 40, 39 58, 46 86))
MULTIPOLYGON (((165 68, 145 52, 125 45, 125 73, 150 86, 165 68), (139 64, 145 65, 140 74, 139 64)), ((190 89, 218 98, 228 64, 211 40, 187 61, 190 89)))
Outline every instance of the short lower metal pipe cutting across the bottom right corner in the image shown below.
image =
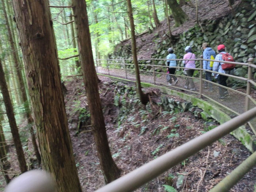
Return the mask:
POLYGON ((256 165, 256 152, 218 183, 210 192, 227 192, 256 165))

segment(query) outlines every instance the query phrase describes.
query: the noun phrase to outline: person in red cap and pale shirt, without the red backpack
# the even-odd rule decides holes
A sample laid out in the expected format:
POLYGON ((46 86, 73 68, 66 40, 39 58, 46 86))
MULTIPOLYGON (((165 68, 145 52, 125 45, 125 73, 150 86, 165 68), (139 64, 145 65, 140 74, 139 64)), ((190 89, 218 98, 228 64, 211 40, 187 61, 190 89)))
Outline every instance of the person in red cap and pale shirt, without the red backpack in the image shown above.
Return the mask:
MULTIPOLYGON (((219 54, 216 55, 215 60, 217 61, 223 61, 222 59, 222 55, 225 54, 225 45, 218 45, 217 47, 219 54)), ((213 63, 213 67, 212 67, 212 71, 217 71, 223 74, 233 74, 234 70, 230 70, 230 71, 226 71, 222 69, 222 65, 224 63, 221 62, 217 62, 214 61, 213 63)), ((227 87, 227 78, 229 78, 228 76, 225 75, 219 75, 219 74, 212 74, 214 76, 215 79, 218 80, 218 83, 222 86, 227 87)), ((229 92, 227 91, 227 89, 223 88, 223 87, 219 87, 219 98, 223 101, 225 99, 225 97, 227 97, 227 95, 229 94, 229 92)))

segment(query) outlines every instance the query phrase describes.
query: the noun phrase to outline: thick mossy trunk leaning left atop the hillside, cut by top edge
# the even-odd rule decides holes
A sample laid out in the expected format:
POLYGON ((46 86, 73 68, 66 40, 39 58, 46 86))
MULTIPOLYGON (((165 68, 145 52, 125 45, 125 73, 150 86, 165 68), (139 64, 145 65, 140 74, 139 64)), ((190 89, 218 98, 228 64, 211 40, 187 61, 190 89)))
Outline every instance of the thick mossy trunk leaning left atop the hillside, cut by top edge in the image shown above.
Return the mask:
POLYGON ((180 26, 185 22, 188 16, 181 9, 180 5, 177 3, 177 0, 167 0, 167 3, 172 10, 176 26, 180 26))

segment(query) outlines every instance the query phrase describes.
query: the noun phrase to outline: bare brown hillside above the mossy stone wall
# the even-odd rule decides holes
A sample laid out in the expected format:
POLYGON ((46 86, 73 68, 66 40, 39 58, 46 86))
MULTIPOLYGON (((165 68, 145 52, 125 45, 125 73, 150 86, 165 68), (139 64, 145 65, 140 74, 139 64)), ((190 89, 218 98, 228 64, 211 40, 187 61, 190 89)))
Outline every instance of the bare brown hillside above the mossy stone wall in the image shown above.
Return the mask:
MULTIPOLYGON (((195 5, 195 0, 191 0, 191 2, 195 5)), ((235 1, 233 8, 236 9, 241 2, 242 0, 235 1)), ((186 12, 189 19, 183 25, 175 27, 174 19, 170 16, 170 26, 173 36, 177 36, 197 24, 196 8, 184 5, 182 9, 186 12)), ((219 19, 228 14, 231 14, 228 0, 199 0, 198 18, 200 23, 203 23, 205 20, 219 19)), ((146 33, 140 37, 137 36, 138 59, 151 58, 151 55, 156 51, 155 43, 162 41, 166 37, 166 33, 168 33, 167 23, 166 20, 163 20, 159 28, 155 28, 151 34, 146 33)), ((125 45, 131 45, 131 40, 124 40, 116 48, 118 49, 118 47, 125 45)))

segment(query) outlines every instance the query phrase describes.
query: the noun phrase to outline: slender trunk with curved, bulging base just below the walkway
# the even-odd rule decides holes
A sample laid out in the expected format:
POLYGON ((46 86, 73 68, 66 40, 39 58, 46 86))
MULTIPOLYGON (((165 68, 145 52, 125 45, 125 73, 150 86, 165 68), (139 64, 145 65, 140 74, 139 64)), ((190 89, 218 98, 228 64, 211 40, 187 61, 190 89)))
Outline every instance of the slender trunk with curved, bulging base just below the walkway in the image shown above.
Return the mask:
POLYGON ((136 74, 136 91, 140 98, 140 102, 142 102, 143 104, 146 104, 148 102, 148 97, 146 94, 143 93, 140 85, 140 72, 139 72, 139 65, 138 65, 138 59, 137 59, 135 26, 134 26, 133 15, 132 15, 131 0, 127 0, 127 8, 128 8, 130 27, 131 27, 132 56, 133 56, 133 63, 135 67, 135 74, 136 74))

